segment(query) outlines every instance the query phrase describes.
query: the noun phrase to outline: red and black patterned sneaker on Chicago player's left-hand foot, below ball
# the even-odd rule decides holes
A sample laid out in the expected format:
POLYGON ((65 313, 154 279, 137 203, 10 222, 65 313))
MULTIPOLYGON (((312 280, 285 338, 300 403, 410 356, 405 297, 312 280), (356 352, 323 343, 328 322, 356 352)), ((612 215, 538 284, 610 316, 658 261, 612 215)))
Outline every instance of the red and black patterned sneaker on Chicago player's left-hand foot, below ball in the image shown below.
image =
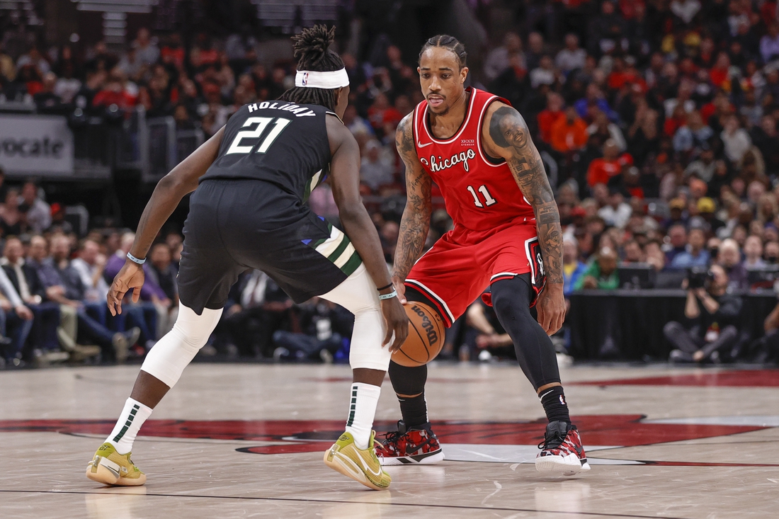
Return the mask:
POLYGON ((430 429, 430 422, 406 429, 397 422, 397 432, 386 433, 382 443, 375 443, 376 457, 382 465, 429 465, 443 461, 441 444, 430 429))

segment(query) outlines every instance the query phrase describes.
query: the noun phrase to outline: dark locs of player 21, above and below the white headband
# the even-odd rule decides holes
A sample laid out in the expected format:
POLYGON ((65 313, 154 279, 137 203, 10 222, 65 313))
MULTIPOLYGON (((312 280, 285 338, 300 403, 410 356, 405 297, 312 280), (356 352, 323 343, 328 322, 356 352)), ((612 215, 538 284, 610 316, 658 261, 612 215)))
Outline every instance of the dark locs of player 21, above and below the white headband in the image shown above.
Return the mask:
MULTIPOLYGON (((343 69, 344 61, 335 51, 330 50, 335 35, 334 26, 328 29, 324 25, 315 25, 292 37, 298 70, 333 72, 343 69)), ((279 99, 297 104, 321 104, 329 110, 335 110, 336 91, 334 88, 292 87, 281 94, 279 99)))

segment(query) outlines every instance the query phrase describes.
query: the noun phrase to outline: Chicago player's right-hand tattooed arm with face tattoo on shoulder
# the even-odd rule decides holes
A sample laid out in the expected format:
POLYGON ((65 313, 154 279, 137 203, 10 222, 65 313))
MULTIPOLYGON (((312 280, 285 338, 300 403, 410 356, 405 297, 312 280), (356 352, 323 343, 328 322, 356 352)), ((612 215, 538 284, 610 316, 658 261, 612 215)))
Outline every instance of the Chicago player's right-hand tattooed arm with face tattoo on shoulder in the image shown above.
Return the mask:
POLYGON ((527 124, 514 108, 493 103, 481 131, 488 153, 506 159, 516 185, 533 207, 546 273, 546 287, 538 298, 538 323, 548 334, 554 334, 566 315, 562 295, 562 228, 544 163, 530 139, 527 124))

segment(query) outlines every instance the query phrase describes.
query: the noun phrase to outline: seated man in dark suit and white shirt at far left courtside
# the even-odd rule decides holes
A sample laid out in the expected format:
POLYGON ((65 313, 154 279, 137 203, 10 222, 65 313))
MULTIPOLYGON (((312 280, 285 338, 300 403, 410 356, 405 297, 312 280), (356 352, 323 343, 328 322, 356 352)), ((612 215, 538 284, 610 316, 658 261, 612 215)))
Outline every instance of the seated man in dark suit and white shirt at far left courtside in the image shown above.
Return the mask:
MULTIPOLYGON (((24 248, 19 238, 9 237, 5 240, 0 264, 5 270, 5 275, 11 280, 13 288, 16 289, 16 293, 33 312, 32 341, 36 350, 58 351, 59 305, 48 299, 41 278, 33 267, 26 264, 23 254, 24 248)), ((42 354, 42 351, 35 352, 36 356, 42 354)))

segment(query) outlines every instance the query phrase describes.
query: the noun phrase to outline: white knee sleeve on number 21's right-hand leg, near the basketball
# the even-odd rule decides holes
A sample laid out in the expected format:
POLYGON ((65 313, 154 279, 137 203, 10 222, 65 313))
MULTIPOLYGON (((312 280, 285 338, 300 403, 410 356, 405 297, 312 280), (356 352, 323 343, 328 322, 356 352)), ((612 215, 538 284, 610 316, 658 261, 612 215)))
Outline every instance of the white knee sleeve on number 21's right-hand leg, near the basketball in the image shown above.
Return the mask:
POLYGON ((382 315, 379 291, 360 265, 346 281, 321 296, 343 306, 354 314, 349 364, 352 369, 386 371, 390 367, 390 349, 382 348, 386 325, 382 315))

